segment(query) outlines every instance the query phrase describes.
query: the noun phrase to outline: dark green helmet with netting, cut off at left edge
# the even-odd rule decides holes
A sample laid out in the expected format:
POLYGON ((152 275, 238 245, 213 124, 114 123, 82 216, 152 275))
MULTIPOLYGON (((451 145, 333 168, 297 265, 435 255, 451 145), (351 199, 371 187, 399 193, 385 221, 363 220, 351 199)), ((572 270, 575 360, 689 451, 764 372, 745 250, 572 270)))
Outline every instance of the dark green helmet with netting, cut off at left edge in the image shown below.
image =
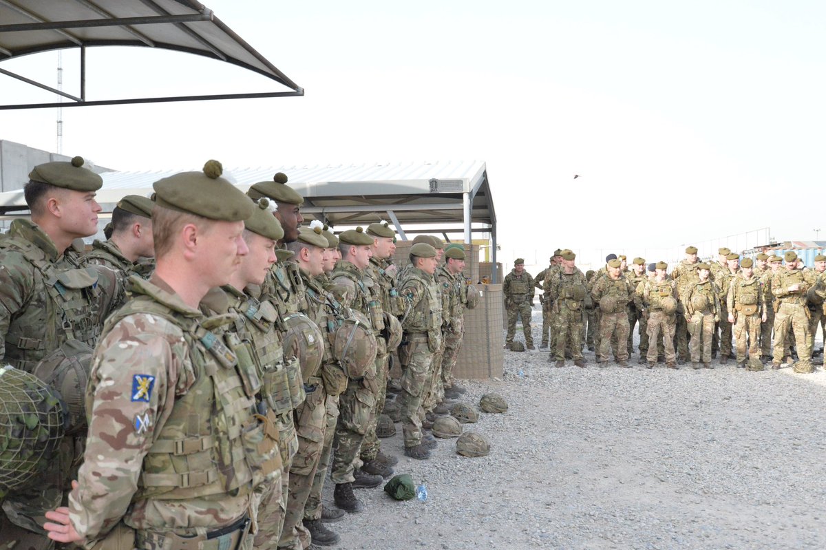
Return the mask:
POLYGON ((68 419, 45 382, 29 372, 0 367, 0 499, 45 467, 68 419))

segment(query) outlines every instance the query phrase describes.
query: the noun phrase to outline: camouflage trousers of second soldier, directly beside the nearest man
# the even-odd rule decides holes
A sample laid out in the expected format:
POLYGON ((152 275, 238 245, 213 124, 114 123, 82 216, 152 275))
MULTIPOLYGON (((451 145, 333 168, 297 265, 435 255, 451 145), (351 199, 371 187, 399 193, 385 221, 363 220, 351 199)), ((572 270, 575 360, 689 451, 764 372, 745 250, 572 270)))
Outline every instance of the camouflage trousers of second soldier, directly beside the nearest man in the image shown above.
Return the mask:
POLYGON ((281 538, 287 514, 290 467, 292 458, 298 452, 298 436, 292 410, 278 415, 278 448, 281 451, 281 475, 272 484, 262 484, 261 492, 255 495, 258 502, 258 533, 255 533, 254 548, 276 548, 278 539, 281 538))

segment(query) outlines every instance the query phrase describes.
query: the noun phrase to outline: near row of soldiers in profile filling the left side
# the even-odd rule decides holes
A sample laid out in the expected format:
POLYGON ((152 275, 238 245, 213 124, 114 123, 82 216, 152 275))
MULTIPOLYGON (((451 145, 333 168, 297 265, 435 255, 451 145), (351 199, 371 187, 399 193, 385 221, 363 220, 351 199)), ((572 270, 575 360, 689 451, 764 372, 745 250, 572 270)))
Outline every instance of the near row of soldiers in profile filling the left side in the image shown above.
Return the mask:
POLYGON ((398 461, 376 434, 394 353, 403 452, 430 457, 425 428, 464 393, 463 246, 421 235, 398 270, 387 222, 302 226, 284 174, 244 194, 221 173, 124 197, 83 251, 102 179, 79 157, 32 170, 31 221, 0 239, 0 358, 73 372, 53 388, 72 425, 53 456, 0 460, 0 548, 333 545, 325 523, 398 461))

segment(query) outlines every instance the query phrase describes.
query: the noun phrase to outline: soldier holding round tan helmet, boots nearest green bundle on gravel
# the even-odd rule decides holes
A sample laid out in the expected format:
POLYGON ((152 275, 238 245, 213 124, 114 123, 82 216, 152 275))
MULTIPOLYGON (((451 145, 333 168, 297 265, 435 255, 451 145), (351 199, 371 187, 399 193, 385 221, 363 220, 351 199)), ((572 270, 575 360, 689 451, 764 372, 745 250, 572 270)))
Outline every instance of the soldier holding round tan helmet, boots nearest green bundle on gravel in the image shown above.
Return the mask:
MULTIPOLYGON (((369 320, 373 334, 380 334, 375 323, 383 319, 381 301, 370 293, 365 282, 365 270, 373 257, 373 238, 364 233, 361 226, 339 235, 341 260, 330 273, 333 282, 342 288, 341 301, 345 307, 358 311, 369 320)), ((383 328, 383 325, 378 325, 383 328)), ((353 489, 377 486, 381 476, 361 471, 359 458, 364 435, 370 426, 373 407, 376 405, 378 385, 375 365, 360 379, 350 379, 347 389, 339 396, 339 420, 333 439, 333 467, 330 479, 335 483, 335 505, 347 512, 363 510, 353 489)))

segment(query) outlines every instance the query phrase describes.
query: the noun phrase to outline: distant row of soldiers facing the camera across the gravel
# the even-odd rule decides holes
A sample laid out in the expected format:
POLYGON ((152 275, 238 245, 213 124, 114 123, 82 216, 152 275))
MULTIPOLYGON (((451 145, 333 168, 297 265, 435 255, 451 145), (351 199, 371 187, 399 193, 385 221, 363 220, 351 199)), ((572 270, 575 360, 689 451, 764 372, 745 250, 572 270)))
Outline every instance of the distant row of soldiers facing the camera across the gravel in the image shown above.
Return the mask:
MULTIPOLYGON (((700 262, 698 250, 689 246, 671 273, 664 262, 648 264, 646 273, 643 258, 628 268, 625 256, 610 254, 604 268, 583 274, 574 265, 576 255, 558 249, 550 267, 533 279, 518 259, 506 277, 506 299, 528 305, 520 315, 525 342, 533 348, 530 303, 534 287, 543 288, 539 347, 550 346, 559 367, 566 357, 584 367, 584 344, 596 350, 597 363, 613 352, 620 366, 629 366, 637 326, 639 363, 648 367, 664 358, 667 367, 691 361, 695 368, 710 368, 719 352, 722 364, 734 358, 738 367, 762 370, 764 363, 775 369, 794 363, 796 372, 814 372, 814 339, 818 331, 826 334, 826 256, 804 268, 795 252, 742 260, 730 249, 718 252, 717 261, 700 262)), ((506 347, 515 333, 512 311, 506 347)))

